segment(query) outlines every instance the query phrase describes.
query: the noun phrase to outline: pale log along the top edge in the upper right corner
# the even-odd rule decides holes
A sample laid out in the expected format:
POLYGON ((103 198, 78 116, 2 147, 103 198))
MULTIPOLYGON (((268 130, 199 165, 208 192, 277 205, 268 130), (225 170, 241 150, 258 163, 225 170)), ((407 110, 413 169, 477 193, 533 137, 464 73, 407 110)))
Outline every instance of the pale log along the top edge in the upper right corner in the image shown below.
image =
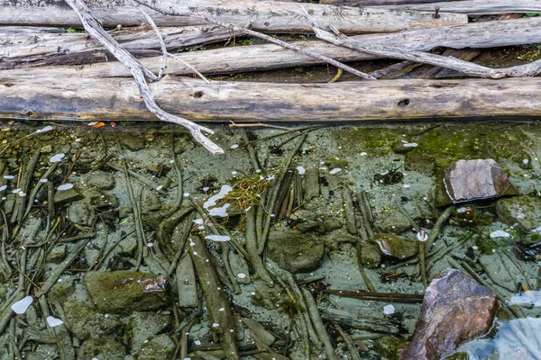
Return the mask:
MULTIPOLYGON (((363 0, 326 0, 326 4, 364 6, 363 0)), ((434 11, 436 6, 440 8, 440 12, 470 15, 541 12, 541 0, 462 0, 451 2, 433 1, 430 4, 390 4, 378 6, 377 8, 434 11)))

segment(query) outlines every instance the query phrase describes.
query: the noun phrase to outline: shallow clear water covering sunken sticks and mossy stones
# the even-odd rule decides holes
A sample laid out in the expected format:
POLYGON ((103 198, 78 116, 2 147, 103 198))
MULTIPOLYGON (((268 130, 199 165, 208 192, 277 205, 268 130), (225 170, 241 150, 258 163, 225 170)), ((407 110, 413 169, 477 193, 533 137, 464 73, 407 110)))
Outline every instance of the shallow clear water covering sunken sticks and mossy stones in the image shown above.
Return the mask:
POLYGON ((458 204, 427 282, 466 264, 503 300, 454 358, 539 358, 536 124, 216 127, 221 156, 167 124, 18 127, 0 132, 0 358, 326 358, 326 340, 352 358, 342 331, 361 358, 398 358, 426 289, 409 219, 436 231, 443 170, 489 158, 518 213, 458 204), (355 298, 369 286, 410 296, 355 298))

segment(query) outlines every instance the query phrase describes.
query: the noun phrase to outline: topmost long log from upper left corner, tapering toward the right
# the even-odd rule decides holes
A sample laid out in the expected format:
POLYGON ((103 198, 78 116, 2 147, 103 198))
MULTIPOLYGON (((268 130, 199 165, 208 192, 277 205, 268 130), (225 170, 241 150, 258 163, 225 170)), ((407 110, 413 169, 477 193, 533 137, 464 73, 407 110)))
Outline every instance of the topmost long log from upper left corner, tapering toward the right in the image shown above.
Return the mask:
MULTIPOLYGON (((141 12, 131 0, 102 2, 87 0, 94 15, 105 26, 140 25, 144 22, 141 12)), ((234 0, 161 0, 159 5, 174 7, 186 14, 206 14, 224 23, 268 32, 311 32, 310 23, 301 15, 301 4, 234 0)), ((150 4, 150 3, 149 3, 150 4)), ((154 2, 153 2, 154 4, 154 2)), ((348 33, 394 32, 408 29, 430 28, 456 23, 467 23, 462 14, 441 14, 437 19, 432 12, 409 12, 388 9, 336 7, 326 4, 302 4, 307 12, 320 23, 333 23, 348 33)), ((159 26, 201 25, 205 21, 193 16, 167 16, 148 10, 159 26)), ((77 14, 63 0, 0 0, 0 24, 80 26, 77 14), (29 6, 28 3, 33 4, 29 6), (35 3, 35 4, 34 4, 35 3)))

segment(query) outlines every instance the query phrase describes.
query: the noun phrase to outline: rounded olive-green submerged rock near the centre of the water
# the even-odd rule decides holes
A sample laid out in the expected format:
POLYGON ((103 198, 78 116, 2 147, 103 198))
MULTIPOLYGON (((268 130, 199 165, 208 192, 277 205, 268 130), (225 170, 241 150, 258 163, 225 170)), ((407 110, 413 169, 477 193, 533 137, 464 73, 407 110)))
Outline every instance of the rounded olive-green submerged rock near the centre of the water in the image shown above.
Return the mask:
POLYGON ((324 250, 323 242, 316 238, 287 229, 271 232, 267 254, 282 269, 297 274, 316 270, 324 250))

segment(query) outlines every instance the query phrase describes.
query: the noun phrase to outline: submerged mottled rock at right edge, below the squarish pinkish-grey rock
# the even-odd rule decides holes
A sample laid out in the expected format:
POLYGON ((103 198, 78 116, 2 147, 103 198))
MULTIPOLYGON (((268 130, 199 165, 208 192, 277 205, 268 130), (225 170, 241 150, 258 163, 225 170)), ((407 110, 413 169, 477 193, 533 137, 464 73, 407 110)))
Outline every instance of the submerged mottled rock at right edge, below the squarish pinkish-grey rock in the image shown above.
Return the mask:
POLYGON ((523 195, 500 199, 496 202, 496 213, 501 222, 518 224, 521 232, 529 232, 541 226, 541 198, 523 195))

